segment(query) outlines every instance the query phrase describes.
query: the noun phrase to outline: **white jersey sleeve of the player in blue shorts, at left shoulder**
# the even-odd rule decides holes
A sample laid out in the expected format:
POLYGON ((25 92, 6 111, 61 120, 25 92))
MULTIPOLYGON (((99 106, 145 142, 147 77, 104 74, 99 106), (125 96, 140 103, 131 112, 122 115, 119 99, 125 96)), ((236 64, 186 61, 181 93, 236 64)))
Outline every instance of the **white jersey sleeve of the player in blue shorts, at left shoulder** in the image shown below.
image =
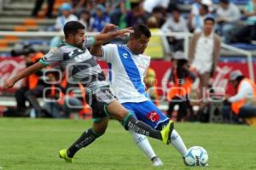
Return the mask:
POLYGON ((116 45, 115 44, 108 44, 102 46, 102 59, 108 63, 112 63, 114 58, 116 57, 116 45))

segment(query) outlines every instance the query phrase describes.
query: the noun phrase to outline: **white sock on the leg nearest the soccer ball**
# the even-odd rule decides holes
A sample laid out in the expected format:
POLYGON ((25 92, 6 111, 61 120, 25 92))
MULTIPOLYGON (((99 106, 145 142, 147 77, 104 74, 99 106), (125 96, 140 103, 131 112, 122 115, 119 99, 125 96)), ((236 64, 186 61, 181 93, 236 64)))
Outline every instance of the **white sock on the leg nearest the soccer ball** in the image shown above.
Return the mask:
POLYGON ((187 152, 187 147, 183 143, 183 139, 179 136, 177 131, 173 129, 171 135, 171 144, 176 148, 176 150, 184 157, 187 152))

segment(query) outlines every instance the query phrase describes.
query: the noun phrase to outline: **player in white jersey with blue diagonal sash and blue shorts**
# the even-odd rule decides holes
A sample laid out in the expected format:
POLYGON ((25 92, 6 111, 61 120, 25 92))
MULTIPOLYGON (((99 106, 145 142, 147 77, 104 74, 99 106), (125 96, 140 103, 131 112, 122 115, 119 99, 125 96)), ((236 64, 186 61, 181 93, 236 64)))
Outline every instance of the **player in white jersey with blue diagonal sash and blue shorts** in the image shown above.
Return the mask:
MULTIPOLYGON (((147 26, 137 25, 133 27, 129 42, 123 44, 95 45, 90 53, 102 57, 109 65, 109 81, 112 84, 114 95, 138 120, 147 123, 154 129, 165 127, 169 118, 164 115, 154 103, 146 97, 143 79, 146 75, 150 57, 143 55, 147 48, 151 33, 147 26)), ((148 139, 137 133, 131 133, 137 146, 152 158, 154 150, 148 139)), ((183 139, 176 130, 172 131, 171 144, 185 156, 187 148, 183 139)))

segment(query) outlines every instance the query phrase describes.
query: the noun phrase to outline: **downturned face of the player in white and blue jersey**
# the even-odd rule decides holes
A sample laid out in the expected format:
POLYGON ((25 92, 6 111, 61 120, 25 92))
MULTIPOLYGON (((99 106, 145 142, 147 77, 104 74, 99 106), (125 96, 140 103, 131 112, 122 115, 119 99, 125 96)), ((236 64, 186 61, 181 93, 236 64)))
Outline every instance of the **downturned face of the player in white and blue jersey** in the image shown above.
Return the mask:
POLYGON ((131 38, 131 51, 135 54, 143 54, 148 47, 149 37, 142 35, 139 38, 131 38))

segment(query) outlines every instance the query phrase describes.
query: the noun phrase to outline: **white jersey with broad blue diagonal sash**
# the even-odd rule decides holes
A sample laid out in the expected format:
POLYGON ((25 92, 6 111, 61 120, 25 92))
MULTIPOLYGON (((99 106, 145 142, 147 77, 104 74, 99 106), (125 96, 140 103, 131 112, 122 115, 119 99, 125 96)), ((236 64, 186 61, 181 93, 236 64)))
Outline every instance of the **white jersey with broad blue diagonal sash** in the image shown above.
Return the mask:
POLYGON ((150 57, 132 54, 126 45, 108 44, 102 47, 102 58, 109 65, 109 81, 113 94, 120 103, 143 102, 145 96, 143 78, 150 64, 150 57))

